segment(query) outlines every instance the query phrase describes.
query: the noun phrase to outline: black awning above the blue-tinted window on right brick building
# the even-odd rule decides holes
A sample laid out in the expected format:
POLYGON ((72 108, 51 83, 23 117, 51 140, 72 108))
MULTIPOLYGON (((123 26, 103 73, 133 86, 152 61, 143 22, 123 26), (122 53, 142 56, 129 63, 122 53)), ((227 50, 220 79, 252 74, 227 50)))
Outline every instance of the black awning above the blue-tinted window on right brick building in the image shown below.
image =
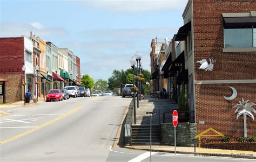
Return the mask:
POLYGON ((224 27, 256 25, 256 17, 224 17, 224 27))

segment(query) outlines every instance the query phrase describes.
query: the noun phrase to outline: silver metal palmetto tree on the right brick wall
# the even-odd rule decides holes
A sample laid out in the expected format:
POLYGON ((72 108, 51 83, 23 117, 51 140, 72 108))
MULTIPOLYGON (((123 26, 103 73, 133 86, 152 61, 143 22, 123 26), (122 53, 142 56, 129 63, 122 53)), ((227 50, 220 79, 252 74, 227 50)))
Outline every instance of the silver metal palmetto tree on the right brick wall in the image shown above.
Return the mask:
POLYGON ((247 138, 247 130, 246 130, 246 116, 250 116, 254 121, 253 113, 256 113, 255 109, 252 107, 256 105, 253 102, 249 102, 249 100, 244 101, 244 98, 242 98, 242 101, 239 101, 239 104, 235 105, 234 108, 237 108, 235 112, 237 113, 237 119, 240 115, 244 116, 244 137, 247 138))

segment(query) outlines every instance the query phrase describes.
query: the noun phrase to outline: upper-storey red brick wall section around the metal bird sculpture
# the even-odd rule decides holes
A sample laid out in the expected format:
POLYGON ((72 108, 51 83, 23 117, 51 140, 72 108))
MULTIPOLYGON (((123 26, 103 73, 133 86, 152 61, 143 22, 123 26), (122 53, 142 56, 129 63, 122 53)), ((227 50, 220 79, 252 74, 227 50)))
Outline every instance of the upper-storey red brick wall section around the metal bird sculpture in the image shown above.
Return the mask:
POLYGON ((195 64, 195 80, 256 79, 256 52, 223 53, 224 29, 221 13, 255 11, 256 1, 193 1, 194 59, 214 57, 215 71, 199 70, 195 64))

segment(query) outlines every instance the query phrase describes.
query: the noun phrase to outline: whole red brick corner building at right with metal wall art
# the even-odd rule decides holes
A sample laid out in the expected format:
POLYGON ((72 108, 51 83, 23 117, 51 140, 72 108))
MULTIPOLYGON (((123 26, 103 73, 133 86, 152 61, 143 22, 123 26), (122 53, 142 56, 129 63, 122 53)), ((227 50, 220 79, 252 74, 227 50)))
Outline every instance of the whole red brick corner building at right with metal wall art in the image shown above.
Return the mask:
MULTIPOLYGON (((244 136, 244 121, 234 105, 244 98, 256 103, 256 1, 189 0, 176 40, 185 41, 185 69, 190 111, 198 133, 212 127, 231 137, 244 136), (214 70, 199 69, 196 61, 215 60, 214 70), (237 90, 232 101, 231 96, 237 90)), ((255 116, 255 114, 254 114, 255 116)), ((256 135, 256 121, 247 117, 248 136, 256 135)))

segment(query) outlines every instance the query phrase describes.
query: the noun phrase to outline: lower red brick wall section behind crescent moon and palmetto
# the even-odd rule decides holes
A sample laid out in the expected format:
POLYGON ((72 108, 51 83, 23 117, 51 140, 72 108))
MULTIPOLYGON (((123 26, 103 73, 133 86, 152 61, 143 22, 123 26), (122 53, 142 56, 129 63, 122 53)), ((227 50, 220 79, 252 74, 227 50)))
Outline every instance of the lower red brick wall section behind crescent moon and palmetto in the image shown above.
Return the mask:
MULTIPOLYGON (((256 83, 196 84, 195 90, 198 133, 212 127, 233 139, 244 136, 243 116, 237 119, 237 113, 233 107, 242 101, 242 97, 244 100, 256 103, 256 83), (227 101, 223 97, 232 95, 232 89, 228 86, 237 89, 238 95, 233 101, 227 101), (199 125, 199 121, 205 121, 205 124, 199 125)), ((256 135, 256 121, 248 116, 247 135, 248 137, 256 135)))

